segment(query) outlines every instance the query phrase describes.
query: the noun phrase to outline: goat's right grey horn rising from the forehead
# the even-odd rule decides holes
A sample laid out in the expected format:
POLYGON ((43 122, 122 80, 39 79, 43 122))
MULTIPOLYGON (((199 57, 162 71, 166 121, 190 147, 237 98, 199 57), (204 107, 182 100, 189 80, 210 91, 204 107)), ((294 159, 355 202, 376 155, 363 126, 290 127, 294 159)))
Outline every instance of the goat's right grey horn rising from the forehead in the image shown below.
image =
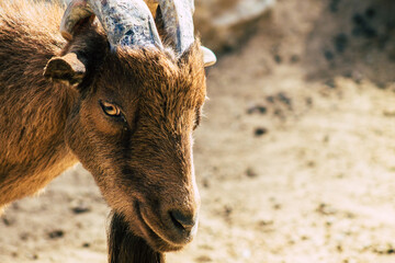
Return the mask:
POLYGON ((176 45, 178 54, 183 54, 194 42, 194 0, 147 0, 159 2, 165 31, 176 45))

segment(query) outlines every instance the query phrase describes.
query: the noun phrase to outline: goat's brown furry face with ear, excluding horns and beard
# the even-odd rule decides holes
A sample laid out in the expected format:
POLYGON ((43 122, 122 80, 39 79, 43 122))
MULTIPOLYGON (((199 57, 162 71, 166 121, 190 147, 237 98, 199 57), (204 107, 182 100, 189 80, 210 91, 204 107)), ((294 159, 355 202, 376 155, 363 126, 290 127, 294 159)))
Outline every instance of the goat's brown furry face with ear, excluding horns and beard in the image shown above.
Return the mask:
POLYGON ((67 145, 134 235, 159 252, 179 250, 196 231, 200 207, 192 161, 192 132, 205 100, 199 44, 180 59, 129 47, 103 54, 100 67, 68 53, 46 68, 71 83, 80 75, 75 69, 87 68, 67 145))

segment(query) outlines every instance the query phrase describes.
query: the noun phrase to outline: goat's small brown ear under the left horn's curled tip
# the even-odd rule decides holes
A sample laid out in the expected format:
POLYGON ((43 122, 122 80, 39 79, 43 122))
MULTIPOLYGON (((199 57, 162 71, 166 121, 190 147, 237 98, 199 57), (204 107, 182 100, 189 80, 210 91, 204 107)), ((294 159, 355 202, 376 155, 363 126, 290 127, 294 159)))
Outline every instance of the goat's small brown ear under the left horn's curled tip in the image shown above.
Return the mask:
POLYGON ((53 81, 66 81, 71 85, 81 83, 84 75, 86 66, 75 53, 68 53, 63 57, 53 57, 44 69, 45 78, 53 81))

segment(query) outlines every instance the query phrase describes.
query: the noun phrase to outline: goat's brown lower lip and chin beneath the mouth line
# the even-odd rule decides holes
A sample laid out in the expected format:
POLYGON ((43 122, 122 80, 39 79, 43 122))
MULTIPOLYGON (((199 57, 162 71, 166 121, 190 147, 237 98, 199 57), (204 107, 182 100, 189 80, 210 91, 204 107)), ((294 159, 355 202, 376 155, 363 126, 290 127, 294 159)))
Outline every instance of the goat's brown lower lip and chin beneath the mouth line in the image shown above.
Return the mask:
POLYGON ((147 243, 151 245, 154 250, 158 252, 171 252, 179 251, 185 245, 185 243, 174 243, 163 237, 160 231, 155 230, 155 228, 151 226, 151 224, 149 224, 149 220, 147 220, 146 216, 142 211, 140 204, 138 202, 135 202, 134 208, 139 221, 138 225, 140 228, 140 232, 143 233, 147 243))

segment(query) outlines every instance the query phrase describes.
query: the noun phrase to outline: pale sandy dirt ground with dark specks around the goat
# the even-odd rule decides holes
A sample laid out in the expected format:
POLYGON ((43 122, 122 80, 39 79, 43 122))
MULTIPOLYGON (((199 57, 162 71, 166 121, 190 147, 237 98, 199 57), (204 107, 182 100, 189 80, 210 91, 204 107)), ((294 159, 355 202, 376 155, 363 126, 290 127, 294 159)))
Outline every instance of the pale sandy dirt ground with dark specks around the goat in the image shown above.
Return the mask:
MULTIPOLYGON (((208 71, 200 230, 171 263, 395 262, 395 3, 279 0, 208 71)), ((0 262, 105 262, 80 167, 0 220, 0 262)))

